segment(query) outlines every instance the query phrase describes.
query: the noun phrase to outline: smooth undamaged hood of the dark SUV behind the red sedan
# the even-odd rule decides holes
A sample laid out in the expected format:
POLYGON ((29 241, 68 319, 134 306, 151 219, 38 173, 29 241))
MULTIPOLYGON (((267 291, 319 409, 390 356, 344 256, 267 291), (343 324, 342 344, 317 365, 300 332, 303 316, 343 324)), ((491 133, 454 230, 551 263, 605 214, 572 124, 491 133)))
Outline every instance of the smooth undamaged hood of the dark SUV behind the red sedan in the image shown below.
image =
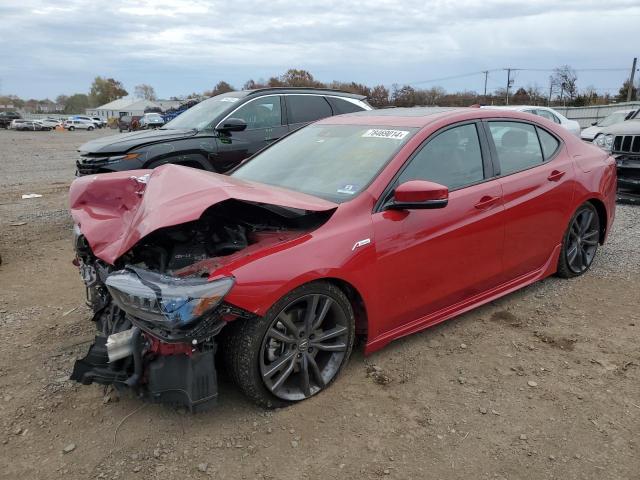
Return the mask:
POLYGON ((124 153, 132 148, 149 143, 176 140, 182 137, 192 137, 197 130, 139 130, 131 133, 120 133, 108 137, 91 140, 78 148, 83 154, 124 153))

